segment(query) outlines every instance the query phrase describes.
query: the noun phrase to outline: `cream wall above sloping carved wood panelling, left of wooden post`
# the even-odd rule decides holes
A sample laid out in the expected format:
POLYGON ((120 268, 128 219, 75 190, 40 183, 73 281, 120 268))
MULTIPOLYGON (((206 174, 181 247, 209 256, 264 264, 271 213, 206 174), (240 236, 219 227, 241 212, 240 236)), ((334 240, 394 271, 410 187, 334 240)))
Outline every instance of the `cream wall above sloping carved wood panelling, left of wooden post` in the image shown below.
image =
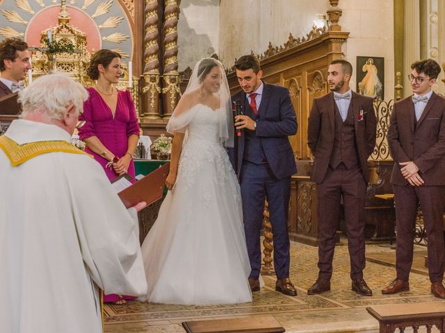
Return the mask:
POLYGON ((264 53, 269 42, 284 44, 289 33, 302 37, 312 30, 327 0, 223 0, 220 1, 220 59, 232 67, 244 54, 264 53), (303 13, 304 11, 304 13, 303 13))

